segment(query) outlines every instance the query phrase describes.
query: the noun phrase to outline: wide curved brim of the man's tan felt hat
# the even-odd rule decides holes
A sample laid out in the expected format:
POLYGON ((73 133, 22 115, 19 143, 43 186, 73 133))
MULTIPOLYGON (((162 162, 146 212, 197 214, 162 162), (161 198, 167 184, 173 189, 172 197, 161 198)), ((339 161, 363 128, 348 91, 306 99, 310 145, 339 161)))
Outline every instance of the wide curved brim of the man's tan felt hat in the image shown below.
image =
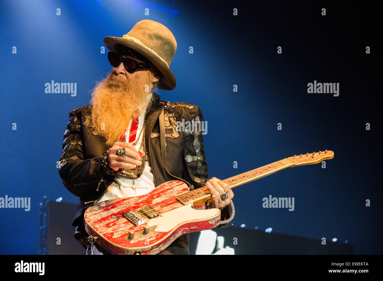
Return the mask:
POLYGON ((160 79, 157 87, 159 89, 168 91, 175 88, 176 81, 173 72, 170 70, 169 67, 167 67, 167 65, 164 62, 162 62, 160 58, 157 57, 157 55, 153 54, 150 50, 146 49, 145 47, 136 42, 129 41, 121 37, 105 37, 103 41, 110 52, 115 52, 115 47, 117 44, 127 46, 139 52, 141 55, 150 60, 150 62, 153 63, 159 71, 161 71, 162 75, 164 75, 164 77, 160 79))

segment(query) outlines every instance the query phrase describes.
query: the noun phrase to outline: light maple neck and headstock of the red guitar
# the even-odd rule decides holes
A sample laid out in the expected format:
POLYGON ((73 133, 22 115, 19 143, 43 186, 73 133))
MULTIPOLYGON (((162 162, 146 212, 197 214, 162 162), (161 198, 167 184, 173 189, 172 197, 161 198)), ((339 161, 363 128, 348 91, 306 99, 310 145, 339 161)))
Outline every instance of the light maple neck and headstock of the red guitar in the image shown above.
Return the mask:
MULTIPOLYGON (((267 175, 281 171, 288 167, 317 164, 324 159, 332 158, 334 158, 334 152, 327 150, 326 152, 319 151, 319 153, 313 152, 311 154, 307 153, 306 155, 301 154, 300 156, 294 155, 289 158, 285 158, 280 161, 259 167, 257 169, 236 175, 234 177, 229 177, 228 179, 222 180, 222 182, 228 184, 230 188, 234 188, 239 185, 252 182, 253 180, 260 179, 261 177, 265 177, 267 175)), ((211 194, 206 186, 177 196, 177 199, 183 204, 187 205, 193 202, 194 206, 200 205, 201 203, 208 201, 210 198, 211 194)))

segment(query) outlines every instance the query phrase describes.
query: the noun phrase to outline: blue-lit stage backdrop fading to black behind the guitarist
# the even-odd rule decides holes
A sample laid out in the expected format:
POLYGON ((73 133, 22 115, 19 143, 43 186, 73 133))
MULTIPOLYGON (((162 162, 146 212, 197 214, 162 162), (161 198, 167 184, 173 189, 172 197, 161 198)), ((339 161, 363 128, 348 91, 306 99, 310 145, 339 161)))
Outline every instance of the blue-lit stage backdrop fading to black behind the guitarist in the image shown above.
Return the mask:
POLYGON ((234 226, 337 238, 353 244, 355 254, 383 253, 380 50, 373 6, 165 0, 0 5, 0 197, 31 198, 30 211, 0 209, 1 254, 38 253, 44 195, 77 203, 56 167, 69 112, 89 104, 95 82, 111 70, 107 50, 101 53, 103 37, 122 37, 142 19, 164 24, 177 40, 170 65, 177 86, 159 94, 164 101, 200 106, 208 124, 203 140, 210 177, 226 179, 294 154, 335 153, 326 169, 285 169, 235 188, 234 226), (77 83, 76 96, 45 93, 52 80, 77 83), (339 83, 339 96, 307 93, 314 80, 339 83), (294 197, 295 210, 263 208, 269 195, 294 197))

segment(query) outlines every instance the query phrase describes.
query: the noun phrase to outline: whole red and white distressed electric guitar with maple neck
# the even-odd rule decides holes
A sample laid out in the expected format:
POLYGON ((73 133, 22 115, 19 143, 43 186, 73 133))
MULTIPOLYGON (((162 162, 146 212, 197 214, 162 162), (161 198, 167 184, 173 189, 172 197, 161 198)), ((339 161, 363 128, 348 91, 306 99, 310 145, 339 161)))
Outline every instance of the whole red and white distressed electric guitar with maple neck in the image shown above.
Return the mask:
MULTIPOLYGON (((317 164, 334 158, 332 151, 292 156, 252 171, 230 177, 230 188, 259 179, 288 167, 317 164)), ((172 180, 152 192, 128 198, 106 200, 85 211, 85 229, 112 254, 157 254, 187 232, 219 225, 221 211, 205 209, 211 197, 206 187, 188 191, 185 183, 172 180)))

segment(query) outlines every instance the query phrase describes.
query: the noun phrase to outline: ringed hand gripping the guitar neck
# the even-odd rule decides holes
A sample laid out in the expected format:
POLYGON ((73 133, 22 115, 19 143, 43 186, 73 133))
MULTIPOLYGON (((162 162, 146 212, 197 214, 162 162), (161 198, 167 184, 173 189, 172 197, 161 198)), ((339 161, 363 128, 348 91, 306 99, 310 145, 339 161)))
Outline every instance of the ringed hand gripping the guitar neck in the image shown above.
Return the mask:
POLYGON ((223 210, 227 205, 230 204, 230 200, 234 197, 234 193, 228 184, 222 182, 216 177, 212 177, 210 180, 206 182, 206 187, 209 189, 211 193, 211 202, 209 208, 218 208, 219 210, 223 210), (229 197, 226 200, 222 200, 221 195, 224 192, 229 193, 229 197))

